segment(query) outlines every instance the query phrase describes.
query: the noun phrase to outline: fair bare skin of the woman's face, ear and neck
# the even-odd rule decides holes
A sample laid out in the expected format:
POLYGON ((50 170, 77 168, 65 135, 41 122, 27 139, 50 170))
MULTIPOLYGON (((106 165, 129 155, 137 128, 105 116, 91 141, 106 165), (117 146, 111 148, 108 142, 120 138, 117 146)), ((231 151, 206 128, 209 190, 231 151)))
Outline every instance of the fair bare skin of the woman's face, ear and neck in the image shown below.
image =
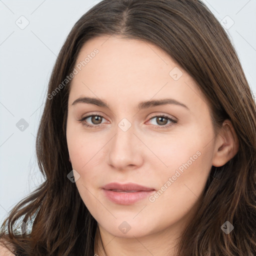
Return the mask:
POLYGON ((72 80, 66 128, 69 160, 79 174, 75 184, 98 223, 94 253, 174 255, 211 166, 222 166, 235 155, 237 136, 229 120, 214 136, 210 108, 196 82, 159 47, 98 36, 83 45, 76 64, 94 48, 99 52, 72 80), (174 67, 182 71, 177 80, 169 75, 174 67), (72 105, 82 96, 102 99, 109 107, 72 105), (163 98, 175 99, 189 109, 175 104, 137 108, 140 101, 163 98), (94 127, 86 127, 79 120, 90 114, 103 116, 102 121, 88 117, 83 123, 94 127), (162 114, 177 122, 154 117, 162 114), (131 124, 126 131, 118 126, 122 118, 131 124), (198 151, 200 155, 153 202, 145 198, 121 205, 102 192, 101 187, 113 181, 157 191, 198 151), (123 221, 130 226, 126 233, 118 228, 123 221))

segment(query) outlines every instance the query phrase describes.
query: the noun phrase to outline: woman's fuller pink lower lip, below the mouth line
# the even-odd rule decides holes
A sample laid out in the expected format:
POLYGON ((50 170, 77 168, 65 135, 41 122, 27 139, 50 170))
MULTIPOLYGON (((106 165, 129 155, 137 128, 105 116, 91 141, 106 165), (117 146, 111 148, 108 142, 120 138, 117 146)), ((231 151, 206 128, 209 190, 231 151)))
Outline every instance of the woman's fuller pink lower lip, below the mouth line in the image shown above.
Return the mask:
POLYGON ((150 191, 137 191, 137 192, 116 192, 112 190, 103 189, 104 194, 106 197, 115 203, 118 204, 132 204, 139 200, 148 197, 154 192, 155 190, 150 191))

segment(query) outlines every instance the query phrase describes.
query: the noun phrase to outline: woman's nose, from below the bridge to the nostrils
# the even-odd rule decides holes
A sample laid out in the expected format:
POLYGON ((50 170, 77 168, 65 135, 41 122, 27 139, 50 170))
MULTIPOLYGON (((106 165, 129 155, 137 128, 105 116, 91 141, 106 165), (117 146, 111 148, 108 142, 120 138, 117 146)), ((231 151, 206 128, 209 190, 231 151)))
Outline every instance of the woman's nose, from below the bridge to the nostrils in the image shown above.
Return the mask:
POLYGON ((108 164, 115 169, 134 169, 143 163, 143 147, 133 132, 133 126, 126 131, 116 127, 108 151, 108 164))

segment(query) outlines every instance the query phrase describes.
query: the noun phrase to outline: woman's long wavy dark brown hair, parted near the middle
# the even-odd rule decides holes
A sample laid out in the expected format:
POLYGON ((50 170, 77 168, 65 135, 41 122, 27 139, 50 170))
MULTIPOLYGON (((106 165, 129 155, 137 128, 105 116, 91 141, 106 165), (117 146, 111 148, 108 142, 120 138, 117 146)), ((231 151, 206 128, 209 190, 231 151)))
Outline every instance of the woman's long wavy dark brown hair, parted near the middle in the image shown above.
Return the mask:
MULTIPOLYGON (((178 243, 177 255, 256 255, 256 109, 228 35, 200 0, 103 0, 73 26, 56 59, 36 136, 45 181, 21 200, 2 224, 0 237, 21 255, 93 255, 96 220, 75 183, 66 143, 70 81, 84 42, 121 35, 165 50, 197 82, 207 98, 215 132, 229 119, 239 140, 236 155, 212 166, 198 209, 178 243), (22 235, 19 221, 31 223, 22 235), (221 225, 234 229, 226 234, 221 225)), ((100 53, 99 53, 100 54, 100 53)))

